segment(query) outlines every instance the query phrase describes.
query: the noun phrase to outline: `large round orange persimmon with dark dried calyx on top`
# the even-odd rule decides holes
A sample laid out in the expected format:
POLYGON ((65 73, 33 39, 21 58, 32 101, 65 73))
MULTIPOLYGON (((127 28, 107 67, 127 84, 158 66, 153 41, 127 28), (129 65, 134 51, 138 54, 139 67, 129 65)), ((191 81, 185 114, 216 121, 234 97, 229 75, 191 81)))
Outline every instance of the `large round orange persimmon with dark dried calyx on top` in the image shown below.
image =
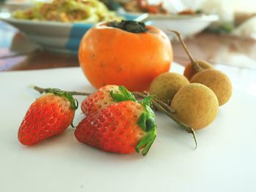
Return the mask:
POLYGON ((81 39, 78 57, 95 88, 124 85, 129 91, 148 91, 154 77, 170 70, 173 49, 159 28, 122 20, 90 28, 81 39))

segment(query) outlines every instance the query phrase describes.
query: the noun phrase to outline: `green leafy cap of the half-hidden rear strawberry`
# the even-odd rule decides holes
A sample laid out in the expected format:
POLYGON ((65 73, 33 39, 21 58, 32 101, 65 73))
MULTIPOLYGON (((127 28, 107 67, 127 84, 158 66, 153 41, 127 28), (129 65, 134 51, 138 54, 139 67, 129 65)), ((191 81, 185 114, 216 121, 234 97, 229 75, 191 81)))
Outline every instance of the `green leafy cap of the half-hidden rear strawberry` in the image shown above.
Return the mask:
POLYGON ((118 93, 113 93, 113 91, 110 91, 110 96, 112 99, 116 102, 121 101, 134 101, 137 102, 135 99, 135 96, 127 90, 123 85, 118 86, 118 93))

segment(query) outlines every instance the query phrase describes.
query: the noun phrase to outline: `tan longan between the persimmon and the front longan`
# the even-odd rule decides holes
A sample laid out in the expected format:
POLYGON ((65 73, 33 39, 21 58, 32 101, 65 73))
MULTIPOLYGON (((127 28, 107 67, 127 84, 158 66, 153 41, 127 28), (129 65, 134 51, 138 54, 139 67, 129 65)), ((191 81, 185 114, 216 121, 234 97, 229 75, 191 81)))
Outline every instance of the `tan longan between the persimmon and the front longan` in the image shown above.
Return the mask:
POLYGON ((189 84, 189 80, 183 75, 165 72, 154 78, 150 84, 149 93, 156 95, 159 100, 171 100, 177 91, 187 84, 189 84))

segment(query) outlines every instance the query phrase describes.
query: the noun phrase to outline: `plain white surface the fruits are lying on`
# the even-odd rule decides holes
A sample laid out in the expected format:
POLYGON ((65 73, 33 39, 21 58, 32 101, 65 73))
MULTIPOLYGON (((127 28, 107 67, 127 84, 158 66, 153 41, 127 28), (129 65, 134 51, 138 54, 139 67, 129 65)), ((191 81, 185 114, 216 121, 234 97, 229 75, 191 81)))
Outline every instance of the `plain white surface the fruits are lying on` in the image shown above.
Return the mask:
MULTIPOLYGON (((233 80, 233 97, 211 126, 197 131, 197 150, 190 134, 158 113, 158 136, 146 157, 83 145, 71 127, 38 145, 20 145, 18 127, 39 96, 29 85, 88 92, 94 88, 78 67, 1 72, 0 191, 256 191, 256 93, 255 84, 249 84, 249 78, 256 82, 255 71, 218 67, 233 80)), ((182 70, 173 64, 173 72, 182 70)), ((75 124, 80 118, 79 110, 75 124)))

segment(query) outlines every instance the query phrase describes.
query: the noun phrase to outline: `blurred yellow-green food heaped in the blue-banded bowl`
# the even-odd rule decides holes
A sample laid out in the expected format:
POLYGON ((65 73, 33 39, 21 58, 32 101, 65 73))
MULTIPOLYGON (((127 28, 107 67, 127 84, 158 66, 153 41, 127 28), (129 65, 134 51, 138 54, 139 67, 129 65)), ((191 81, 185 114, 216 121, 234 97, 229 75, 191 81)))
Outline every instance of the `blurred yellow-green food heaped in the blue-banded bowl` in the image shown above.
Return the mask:
POLYGON ((18 10, 13 18, 26 20, 52 20, 60 22, 98 23, 106 20, 121 20, 98 0, 54 0, 39 3, 27 10, 18 10))

